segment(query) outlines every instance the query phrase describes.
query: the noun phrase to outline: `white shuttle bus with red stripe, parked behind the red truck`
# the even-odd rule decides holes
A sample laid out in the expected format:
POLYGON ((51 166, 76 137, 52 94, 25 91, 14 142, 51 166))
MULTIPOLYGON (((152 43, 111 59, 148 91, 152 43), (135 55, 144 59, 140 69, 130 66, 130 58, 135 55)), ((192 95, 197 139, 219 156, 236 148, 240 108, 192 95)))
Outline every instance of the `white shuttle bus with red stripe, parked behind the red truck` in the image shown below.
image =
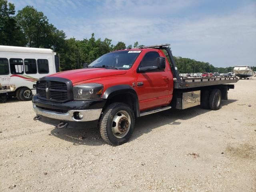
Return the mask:
POLYGON ((51 49, 0 46, 0 102, 12 96, 31 100, 38 78, 59 71, 59 58, 51 49))

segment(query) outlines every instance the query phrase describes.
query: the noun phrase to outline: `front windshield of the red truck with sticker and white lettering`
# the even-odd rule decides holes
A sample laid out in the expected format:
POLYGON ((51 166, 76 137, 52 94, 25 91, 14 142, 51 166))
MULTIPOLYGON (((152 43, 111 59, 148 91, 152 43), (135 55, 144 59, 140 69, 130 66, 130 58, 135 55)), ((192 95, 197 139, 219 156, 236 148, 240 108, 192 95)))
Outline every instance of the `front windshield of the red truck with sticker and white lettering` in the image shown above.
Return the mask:
POLYGON ((140 52, 141 51, 125 50, 107 53, 96 59, 94 62, 88 65, 88 67, 102 66, 108 68, 108 66, 111 66, 118 69, 126 70, 132 67, 140 52))

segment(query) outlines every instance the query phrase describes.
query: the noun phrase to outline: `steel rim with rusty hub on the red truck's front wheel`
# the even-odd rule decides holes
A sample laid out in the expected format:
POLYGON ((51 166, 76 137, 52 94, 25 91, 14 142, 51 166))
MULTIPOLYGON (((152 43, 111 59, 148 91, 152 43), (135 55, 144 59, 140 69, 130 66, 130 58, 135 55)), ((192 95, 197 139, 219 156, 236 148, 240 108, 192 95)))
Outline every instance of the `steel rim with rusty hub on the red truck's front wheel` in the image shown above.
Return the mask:
POLYGON ((112 120, 112 132, 116 138, 124 138, 131 127, 131 118, 128 112, 119 111, 112 120))

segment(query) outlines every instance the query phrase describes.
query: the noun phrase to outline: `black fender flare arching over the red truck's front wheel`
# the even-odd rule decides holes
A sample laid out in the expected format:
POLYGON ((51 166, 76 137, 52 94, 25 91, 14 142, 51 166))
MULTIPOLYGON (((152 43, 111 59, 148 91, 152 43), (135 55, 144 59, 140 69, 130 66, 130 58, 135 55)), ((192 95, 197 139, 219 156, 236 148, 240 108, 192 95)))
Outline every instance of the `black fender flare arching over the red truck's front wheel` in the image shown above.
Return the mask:
POLYGON ((102 95, 102 99, 106 99, 105 106, 112 102, 124 102, 132 107, 134 116, 140 116, 140 108, 136 91, 129 85, 116 85, 108 88, 102 95))

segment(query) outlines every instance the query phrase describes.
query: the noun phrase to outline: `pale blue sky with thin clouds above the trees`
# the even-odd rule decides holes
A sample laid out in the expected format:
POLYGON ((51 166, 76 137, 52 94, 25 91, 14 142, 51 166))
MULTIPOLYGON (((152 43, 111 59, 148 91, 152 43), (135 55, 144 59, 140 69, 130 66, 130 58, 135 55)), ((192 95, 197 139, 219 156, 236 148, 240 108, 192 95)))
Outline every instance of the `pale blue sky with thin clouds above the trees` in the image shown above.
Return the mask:
POLYGON ((216 67, 256 66, 256 0, 9 0, 42 11, 68 38, 170 43, 216 67))

